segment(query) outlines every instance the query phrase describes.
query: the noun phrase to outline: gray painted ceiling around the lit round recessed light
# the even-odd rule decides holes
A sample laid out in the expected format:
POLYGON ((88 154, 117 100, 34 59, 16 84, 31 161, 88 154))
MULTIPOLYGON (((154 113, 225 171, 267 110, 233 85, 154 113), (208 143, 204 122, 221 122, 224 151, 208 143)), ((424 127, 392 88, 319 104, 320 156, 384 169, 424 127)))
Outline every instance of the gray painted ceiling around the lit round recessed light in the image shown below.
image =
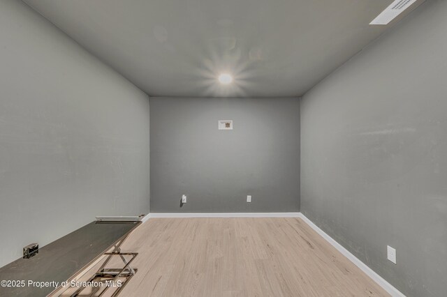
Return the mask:
POLYGON ((301 96, 388 29, 369 22, 392 2, 24 1, 149 96, 184 97, 301 96))

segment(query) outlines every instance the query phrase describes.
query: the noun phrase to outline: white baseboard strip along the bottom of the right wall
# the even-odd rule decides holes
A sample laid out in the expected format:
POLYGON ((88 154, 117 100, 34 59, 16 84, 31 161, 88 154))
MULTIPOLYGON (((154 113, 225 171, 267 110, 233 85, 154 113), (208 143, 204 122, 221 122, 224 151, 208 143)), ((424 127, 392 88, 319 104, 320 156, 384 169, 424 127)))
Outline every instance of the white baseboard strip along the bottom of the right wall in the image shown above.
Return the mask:
POLYGON ((316 226, 316 224, 314 224, 311 220, 309 220, 305 215, 303 215, 302 213, 299 213, 299 214, 300 215, 298 217, 301 218, 303 221, 305 221, 306 224, 309 225, 309 227, 314 229, 316 231, 316 233, 320 234, 321 237, 323 237, 326 241, 328 241, 328 243, 330 243, 334 248, 336 248, 339 252, 341 252, 344 255, 344 257, 348 258, 351 262, 353 262, 353 264, 355 264, 364 273, 366 273, 369 277, 371 277, 371 279, 374 280, 374 282, 379 284, 379 286, 382 287, 385 291, 387 291, 391 296, 405 297, 405 295, 402 294, 398 289, 393 287, 392 284, 387 282, 385 279, 383 279, 383 277, 378 275, 375 271, 373 271, 371 268, 369 268, 365 263, 363 263, 356 256, 351 254, 351 252, 349 252, 349 250, 346 250, 346 248, 344 248, 342 245, 337 243, 337 241, 335 241, 335 239, 330 237, 328 234, 325 234, 325 231, 321 230, 318 226, 316 226))

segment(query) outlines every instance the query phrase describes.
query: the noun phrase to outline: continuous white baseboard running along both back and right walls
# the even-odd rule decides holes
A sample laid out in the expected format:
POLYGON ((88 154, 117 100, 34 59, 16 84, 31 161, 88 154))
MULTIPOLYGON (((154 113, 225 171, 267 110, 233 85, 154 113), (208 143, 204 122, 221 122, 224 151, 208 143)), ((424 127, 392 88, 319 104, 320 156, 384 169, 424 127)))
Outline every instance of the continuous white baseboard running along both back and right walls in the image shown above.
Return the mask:
POLYGON ((365 263, 360 261, 356 256, 351 254, 349 250, 346 250, 342 245, 337 243, 335 239, 325 234, 325 231, 321 230, 316 224, 309 220, 302 213, 149 213, 141 222, 144 223, 149 218, 300 218, 306 222, 312 229, 316 231, 321 237, 323 237, 330 245, 341 252, 344 257, 348 258, 353 264, 355 264, 360 270, 371 277, 374 282, 379 284, 385 291, 393 297, 405 297, 398 289, 393 287, 392 284, 387 282, 383 277, 378 275, 375 271, 369 268, 365 263))

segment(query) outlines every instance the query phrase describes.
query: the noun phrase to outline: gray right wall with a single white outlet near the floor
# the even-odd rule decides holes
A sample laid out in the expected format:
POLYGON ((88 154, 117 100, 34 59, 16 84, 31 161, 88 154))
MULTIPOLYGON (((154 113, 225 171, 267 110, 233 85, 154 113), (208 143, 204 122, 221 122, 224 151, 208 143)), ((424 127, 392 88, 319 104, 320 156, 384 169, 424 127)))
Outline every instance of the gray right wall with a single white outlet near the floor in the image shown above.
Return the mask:
POLYGON ((427 1, 301 102, 302 213, 408 296, 447 291, 446 16, 427 1))

